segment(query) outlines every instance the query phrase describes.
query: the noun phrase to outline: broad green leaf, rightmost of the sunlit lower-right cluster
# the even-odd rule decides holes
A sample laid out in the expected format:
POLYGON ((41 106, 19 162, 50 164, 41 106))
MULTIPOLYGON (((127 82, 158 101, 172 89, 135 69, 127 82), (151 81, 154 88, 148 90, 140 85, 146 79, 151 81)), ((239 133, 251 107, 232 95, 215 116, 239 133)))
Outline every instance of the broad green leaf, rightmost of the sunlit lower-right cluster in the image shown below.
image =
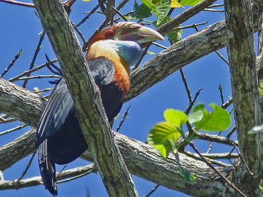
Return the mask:
POLYGON ((194 111, 203 111, 203 119, 194 123, 195 128, 206 131, 227 130, 231 124, 230 113, 215 103, 211 103, 210 106, 213 107, 213 112, 210 113, 203 108, 203 105, 194 108, 194 111))

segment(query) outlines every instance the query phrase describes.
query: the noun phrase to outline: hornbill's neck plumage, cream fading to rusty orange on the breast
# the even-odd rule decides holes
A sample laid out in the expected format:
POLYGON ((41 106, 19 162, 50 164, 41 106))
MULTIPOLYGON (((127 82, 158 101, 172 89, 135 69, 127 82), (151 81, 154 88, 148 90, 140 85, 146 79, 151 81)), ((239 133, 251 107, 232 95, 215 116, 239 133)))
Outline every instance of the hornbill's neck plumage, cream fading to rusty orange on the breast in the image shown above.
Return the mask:
POLYGON ((107 57, 113 62, 115 67, 114 82, 122 91, 122 96, 125 96, 130 88, 129 64, 127 64, 127 62, 125 62, 105 40, 92 44, 87 51, 87 60, 91 60, 96 57, 107 57))

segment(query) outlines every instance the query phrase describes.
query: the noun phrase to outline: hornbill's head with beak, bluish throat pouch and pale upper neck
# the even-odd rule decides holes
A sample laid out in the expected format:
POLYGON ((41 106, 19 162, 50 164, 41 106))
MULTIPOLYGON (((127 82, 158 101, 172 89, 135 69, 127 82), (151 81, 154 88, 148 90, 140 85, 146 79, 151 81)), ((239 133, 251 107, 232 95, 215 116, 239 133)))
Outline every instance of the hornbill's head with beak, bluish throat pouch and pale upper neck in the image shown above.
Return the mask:
POLYGON ((95 57, 108 57, 112 62, 122 57, 127 69, 138 62, 146 43, 164 40, 156 30, 141 26, 134 22, 121 22, 105 28, 90 42, 87 60, 95 57))

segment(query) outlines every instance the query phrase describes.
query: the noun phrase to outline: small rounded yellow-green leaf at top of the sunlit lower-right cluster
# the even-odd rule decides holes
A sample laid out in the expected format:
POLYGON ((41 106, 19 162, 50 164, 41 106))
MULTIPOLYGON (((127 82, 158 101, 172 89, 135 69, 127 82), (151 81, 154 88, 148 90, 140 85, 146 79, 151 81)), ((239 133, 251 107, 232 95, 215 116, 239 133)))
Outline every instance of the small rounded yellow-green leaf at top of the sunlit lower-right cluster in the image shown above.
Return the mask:
POLYGON ((168 108, 163 112, 164 119, 172 125, 181 128, 181 126, 188 121, 186 113, 183 111, 168 108))

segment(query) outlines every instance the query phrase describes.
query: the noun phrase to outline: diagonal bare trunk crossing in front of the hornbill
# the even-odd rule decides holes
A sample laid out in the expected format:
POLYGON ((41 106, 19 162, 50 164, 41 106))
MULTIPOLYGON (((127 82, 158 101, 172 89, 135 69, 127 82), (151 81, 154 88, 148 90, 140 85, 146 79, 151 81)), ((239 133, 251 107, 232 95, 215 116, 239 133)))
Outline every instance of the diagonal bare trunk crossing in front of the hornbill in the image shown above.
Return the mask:
POLYGON ((58 0, 35 0, 34 4, 63 68, 80 128, 109 196, 137 196, 132 177, 114 143, 99 90, 91 77, 68 14, 58 0))

